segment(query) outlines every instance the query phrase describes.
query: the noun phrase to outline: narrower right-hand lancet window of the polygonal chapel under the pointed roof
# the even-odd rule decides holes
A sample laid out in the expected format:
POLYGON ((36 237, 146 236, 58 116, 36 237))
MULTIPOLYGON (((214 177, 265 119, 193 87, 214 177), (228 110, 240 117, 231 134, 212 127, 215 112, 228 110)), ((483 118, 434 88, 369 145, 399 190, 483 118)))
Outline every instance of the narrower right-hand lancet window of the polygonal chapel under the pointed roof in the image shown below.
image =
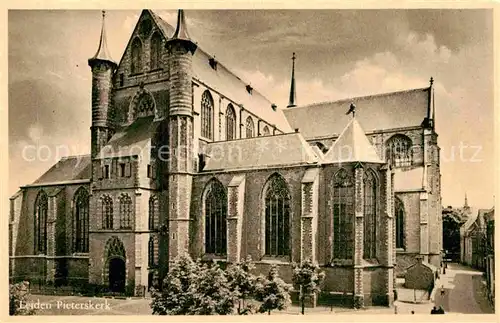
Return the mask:
POLYGON ((377 180, 372 170, 365 172, 364 178, 364 251, 363 258, 375 259, 377 251, 377 180))

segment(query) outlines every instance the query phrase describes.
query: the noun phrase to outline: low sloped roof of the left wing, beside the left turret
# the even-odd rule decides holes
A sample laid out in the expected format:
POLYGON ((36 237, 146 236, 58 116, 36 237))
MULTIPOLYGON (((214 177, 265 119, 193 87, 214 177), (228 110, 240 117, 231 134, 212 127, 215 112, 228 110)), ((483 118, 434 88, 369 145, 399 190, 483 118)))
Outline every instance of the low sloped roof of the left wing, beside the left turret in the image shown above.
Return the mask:
POLYGON ((90 155, 63 157, 32 185, 90 179, 90 155))

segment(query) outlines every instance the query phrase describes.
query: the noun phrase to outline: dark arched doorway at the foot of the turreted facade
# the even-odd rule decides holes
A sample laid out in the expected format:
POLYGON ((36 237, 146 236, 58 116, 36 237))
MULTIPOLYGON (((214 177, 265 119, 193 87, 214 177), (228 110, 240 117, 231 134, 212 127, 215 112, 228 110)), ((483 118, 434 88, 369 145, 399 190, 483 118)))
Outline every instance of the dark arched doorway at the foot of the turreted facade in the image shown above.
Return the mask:
POLYGON ((109 286, 110 292, 125 292, 127 281, 125 247, 117 236, 112 236, 106 242, 104 260, 103 283, 109 286))

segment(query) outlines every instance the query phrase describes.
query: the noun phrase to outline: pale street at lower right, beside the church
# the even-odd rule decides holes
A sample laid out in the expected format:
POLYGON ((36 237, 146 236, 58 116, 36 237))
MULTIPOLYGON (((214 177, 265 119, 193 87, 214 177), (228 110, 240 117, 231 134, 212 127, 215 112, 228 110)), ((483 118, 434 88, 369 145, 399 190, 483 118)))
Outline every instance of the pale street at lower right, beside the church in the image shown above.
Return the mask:
POLYGON ((448 264, 446 274, 441 274, 435 304, 446 313, 490 314, 494 313, 488 302, 482 272, 459 265, 448 264), (441 286, 444 293, 441 294, 441 286))

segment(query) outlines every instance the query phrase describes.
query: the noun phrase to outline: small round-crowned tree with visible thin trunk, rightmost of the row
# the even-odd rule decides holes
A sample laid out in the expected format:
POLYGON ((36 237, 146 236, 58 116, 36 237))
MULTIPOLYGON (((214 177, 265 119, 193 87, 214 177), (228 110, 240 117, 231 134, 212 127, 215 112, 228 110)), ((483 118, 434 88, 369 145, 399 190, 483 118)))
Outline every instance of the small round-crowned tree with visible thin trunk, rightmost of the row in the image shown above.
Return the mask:
POLYGON ((292 264, 293 283, 300 287, 300 305, 301 312, 304 315, 306 297, 320 292, 320 285, 325 279, 325 273, 320 271, 318 265, 313 264, 311 260, 306 260, 300 265, 292 264))

